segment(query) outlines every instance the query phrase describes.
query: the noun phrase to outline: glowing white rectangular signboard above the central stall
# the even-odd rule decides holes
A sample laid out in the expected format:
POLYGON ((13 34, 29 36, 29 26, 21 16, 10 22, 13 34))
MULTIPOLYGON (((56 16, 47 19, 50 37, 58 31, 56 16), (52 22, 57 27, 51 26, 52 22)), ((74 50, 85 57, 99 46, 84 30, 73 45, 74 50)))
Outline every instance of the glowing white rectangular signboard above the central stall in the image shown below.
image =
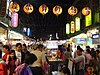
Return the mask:
POLYGON ((48 49, 57 49, 58 43, 59 42, 57 40, 48 40, 48 41, 46 41, 46 47, 48 49))

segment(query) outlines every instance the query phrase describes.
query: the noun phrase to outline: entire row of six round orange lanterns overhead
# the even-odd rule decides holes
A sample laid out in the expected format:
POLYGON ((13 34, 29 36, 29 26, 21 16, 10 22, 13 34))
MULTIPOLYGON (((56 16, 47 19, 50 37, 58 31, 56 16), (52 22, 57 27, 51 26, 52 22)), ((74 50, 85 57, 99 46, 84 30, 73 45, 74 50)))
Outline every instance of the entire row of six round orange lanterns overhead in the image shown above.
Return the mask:
MULTIPOLYGON (((9 6, 9 9, 12 11, 12 12, 18 12, 20 10, 20 6, 19 4, 17 4, 16 2, 13 2, 12 4, 10 4, 9 6)), ((33 12, 34 8, 33 6, 30 4, 30 3, 27 3, 24 7, 23 7, 23 10, 25 13, 27 14, 30 14, 33 12)), ((39 12, 42 14, 42 15, 45 15, 47 14, 49 11, 49 8, 47 7, 47 5, 45 4, 42 4, 40 7, 39 7, 39 12)), ((82 9, 82 14, 87 16, 89 15, 91 12, 91 9, 89 7, 85 7, 82 9)), ((54 8, 53 8, 53 13, 58 16, 62 13, 62 7, 59 6, 59 5, 56 5, 54 8)), ((69 15, 71 16, 74 16, 78 13, 78 9, 74 6, 71 6, 69 9, 68 9, 68 13, 69 15)))

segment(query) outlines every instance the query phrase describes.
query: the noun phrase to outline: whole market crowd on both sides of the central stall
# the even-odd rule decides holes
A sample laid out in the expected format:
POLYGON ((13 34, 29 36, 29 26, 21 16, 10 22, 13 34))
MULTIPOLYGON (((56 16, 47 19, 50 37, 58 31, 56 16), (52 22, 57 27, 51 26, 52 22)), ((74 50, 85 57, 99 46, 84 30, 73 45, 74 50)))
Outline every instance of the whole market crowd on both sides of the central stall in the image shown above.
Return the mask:
MULTIPOLYGON (((0 44, 0 75, 50 75, 46 72, 50 66, 43 44, 28 50, 26 44, 16 43, 15 47, 0 44), (48 65, 47 65, 48 64, 48 65)), ((100 75, 100 51, 86 46, 83 50, 77 46, 72 56, 70 45, 58 47, 57 58, 63 60, 61 75, 100 75), (69 64, 72 62, 72 70, 69 64)))

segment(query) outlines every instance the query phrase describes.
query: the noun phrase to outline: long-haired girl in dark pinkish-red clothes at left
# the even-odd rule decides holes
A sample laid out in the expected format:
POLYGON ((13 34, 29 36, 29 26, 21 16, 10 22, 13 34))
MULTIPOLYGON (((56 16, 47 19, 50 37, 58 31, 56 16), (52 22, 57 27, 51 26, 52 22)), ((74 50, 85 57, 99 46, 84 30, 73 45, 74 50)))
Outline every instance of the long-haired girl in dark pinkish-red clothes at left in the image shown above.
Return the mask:
POLYGON ((10 50, 6 64, 8 65, 8 75, 13 75, 15 68, 20 65, 20 60, 16 57, 14 50, 10 50))

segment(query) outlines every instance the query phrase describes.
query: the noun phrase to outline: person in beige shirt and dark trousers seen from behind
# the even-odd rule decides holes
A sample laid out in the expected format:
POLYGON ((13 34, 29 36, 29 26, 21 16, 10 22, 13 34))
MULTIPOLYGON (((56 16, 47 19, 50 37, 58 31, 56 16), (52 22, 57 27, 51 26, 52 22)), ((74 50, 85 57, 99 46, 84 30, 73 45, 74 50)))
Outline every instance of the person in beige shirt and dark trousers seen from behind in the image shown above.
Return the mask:
POLYGON ((46 74, 46 58, 42 50, 43 50, 43 45, 39 44, 37 49, 32 52, 37 57, 37 60, 30 67, 33 75, 46 74))

